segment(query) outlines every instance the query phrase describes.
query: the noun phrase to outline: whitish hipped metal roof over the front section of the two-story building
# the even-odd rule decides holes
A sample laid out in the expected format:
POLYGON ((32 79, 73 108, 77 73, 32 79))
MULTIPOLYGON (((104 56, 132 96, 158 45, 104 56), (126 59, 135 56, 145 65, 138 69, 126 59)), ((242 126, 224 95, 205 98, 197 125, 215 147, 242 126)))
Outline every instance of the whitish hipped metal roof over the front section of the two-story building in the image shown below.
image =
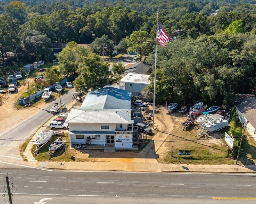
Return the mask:
POLYGON ((72 109, 65 122, 68 123, 108 123, 132 124, 131 109, 72 109), (85 111, 84 111, 85 110, 85 111))

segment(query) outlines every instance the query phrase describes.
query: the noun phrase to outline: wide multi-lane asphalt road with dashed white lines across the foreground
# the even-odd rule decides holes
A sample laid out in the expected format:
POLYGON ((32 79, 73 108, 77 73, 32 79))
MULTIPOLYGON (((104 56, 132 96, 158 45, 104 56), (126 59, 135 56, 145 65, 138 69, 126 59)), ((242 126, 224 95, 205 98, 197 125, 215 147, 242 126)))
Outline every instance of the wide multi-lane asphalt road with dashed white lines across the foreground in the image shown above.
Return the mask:
POLYGON ((256 202, 256 175, 0 169, 0 186, 7 171, 15 173, 13 199, 20 204, 256 202))

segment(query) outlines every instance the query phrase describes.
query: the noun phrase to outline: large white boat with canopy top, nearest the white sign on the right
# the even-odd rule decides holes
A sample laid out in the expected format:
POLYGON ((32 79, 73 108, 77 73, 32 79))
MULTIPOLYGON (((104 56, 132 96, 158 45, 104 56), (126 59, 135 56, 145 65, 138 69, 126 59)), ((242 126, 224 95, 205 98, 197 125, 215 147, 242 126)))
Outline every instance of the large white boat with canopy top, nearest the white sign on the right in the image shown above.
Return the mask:
POLYGON ((219 114, 213 114, 209 117, 210 119, 201 126, 202 129, 208 130, 209 132, 221 130, 229 125, 229 120, 219 114))

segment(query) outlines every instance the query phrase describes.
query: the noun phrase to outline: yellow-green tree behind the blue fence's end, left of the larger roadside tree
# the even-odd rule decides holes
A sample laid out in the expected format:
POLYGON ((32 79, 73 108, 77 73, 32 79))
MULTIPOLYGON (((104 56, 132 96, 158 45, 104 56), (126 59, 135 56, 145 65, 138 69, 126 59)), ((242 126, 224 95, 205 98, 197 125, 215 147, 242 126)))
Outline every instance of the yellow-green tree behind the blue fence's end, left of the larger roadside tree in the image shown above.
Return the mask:
POLYGON ((90 53, 88 48, 77 45, 76 42, 68 42, 59 54, 59 67, 61 74, 69 76, 74 74, 77 69, 83 67, 83 58, 90 53))

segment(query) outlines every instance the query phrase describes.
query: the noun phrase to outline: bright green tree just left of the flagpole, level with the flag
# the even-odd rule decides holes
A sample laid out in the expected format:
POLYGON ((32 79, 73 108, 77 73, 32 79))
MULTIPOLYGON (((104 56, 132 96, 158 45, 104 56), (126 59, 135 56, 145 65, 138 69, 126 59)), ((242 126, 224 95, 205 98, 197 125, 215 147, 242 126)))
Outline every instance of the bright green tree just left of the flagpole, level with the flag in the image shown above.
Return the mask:
POLYGON ((135 52, 138 54, 140 61, 150 51, 150 41, 147 31, 134 31, 131 36, 126 36, 127 52, 135 52))

